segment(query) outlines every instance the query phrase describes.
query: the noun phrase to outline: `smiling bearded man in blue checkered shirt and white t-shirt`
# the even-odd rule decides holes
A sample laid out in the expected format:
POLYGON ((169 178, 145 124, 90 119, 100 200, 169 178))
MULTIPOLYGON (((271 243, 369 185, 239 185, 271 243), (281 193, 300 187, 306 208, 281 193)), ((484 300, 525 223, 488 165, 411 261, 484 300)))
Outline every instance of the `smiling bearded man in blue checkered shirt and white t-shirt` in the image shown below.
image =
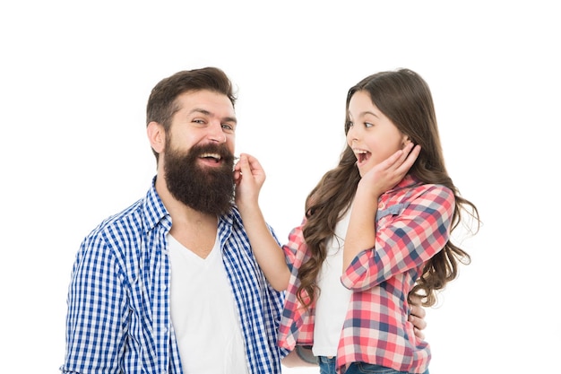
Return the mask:
POLYGON ((151 91, 157 174, 82 242, 63 373, 280 373, 283 293, 266 281, 234 204, 235 101, 213 67, 151 91))

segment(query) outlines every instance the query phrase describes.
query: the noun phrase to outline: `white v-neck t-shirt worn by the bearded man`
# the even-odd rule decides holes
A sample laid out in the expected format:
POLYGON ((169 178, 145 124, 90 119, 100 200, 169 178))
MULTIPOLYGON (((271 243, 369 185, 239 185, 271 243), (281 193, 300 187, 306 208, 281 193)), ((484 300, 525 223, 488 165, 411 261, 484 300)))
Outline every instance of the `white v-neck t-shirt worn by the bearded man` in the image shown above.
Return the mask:
POLYGON ((246 348, 217 239, 206 258, 168 235, 171 321, 185 374, 247 373, 246 348))

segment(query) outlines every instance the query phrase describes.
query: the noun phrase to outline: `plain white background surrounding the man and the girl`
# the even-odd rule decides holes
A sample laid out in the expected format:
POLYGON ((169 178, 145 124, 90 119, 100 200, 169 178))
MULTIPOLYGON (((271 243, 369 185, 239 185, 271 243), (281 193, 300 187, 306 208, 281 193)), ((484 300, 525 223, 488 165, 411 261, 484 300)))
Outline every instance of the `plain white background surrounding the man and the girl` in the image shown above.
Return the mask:
POLYGON ((433 91, 448 171, 484 222, 463 242, 472 264, 428 311, 430 371, 556 370, 553 4, 3 2, 0 372, 58 372, 80 242, 143 196, 155 172, 149 92, 205 65, 237 84, 237 153, 267 170, 263 210, 283 241, 338 160, 350 86, 380 70, 419 72, 433 91))

